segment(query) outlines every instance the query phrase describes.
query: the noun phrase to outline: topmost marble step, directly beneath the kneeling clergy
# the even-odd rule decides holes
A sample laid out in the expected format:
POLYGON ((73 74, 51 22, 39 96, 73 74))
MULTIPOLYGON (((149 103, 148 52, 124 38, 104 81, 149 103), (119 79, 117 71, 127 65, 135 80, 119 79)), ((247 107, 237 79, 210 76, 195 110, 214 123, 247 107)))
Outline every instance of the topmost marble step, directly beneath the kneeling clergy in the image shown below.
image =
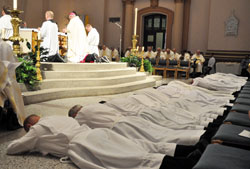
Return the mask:
POLYGON ((110 63, 41 63, 42 71, 84 71, 84 70, 111 70, 126 68, 127 63, 110 62, 110 63))

